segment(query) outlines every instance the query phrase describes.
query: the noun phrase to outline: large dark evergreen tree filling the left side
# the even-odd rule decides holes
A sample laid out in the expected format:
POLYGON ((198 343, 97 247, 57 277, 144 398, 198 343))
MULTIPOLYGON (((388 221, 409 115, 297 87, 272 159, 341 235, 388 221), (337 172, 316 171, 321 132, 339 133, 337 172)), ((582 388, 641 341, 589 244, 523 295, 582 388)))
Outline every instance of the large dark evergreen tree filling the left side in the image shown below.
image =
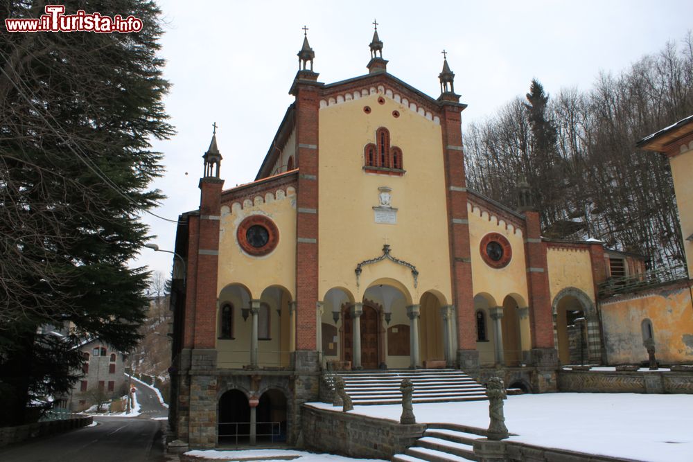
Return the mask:
MULTIPOLYGON (((0 16, 38 18, 44 3, 10 0, 0 16)), ((173 134, 155 4, 62 3, 143 28, 0 33, 0 425, 69 390, 85 338, 137 343, 149 274, 128 260, 147 236, 139 213, 162 197, 148 190, 162 172, 149 140, 173 134)))

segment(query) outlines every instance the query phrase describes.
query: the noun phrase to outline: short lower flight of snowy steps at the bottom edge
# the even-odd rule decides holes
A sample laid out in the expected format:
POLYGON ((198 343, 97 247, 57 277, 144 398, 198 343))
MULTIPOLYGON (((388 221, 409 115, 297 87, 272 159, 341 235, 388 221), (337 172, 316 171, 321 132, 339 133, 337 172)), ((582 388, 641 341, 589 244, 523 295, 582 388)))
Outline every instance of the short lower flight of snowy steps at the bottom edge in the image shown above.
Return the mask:
POLYGON ((474 440, 485 438, 486 431, 452 424, 430 424, 422 438, 404 454, 395 454, 394 462, 466 462, 479 461, 474 440))

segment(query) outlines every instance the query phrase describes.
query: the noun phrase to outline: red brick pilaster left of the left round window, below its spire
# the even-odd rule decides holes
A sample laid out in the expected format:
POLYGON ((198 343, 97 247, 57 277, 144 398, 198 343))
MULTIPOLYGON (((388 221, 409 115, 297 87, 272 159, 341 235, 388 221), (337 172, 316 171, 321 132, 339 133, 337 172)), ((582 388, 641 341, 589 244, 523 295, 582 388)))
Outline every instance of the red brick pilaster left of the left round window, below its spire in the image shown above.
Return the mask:
POLYGON ((222 179, 200 179, 200 236, 198 248, 193 250, 197 254, 193 348, 215 347, 222 186, 222 179))

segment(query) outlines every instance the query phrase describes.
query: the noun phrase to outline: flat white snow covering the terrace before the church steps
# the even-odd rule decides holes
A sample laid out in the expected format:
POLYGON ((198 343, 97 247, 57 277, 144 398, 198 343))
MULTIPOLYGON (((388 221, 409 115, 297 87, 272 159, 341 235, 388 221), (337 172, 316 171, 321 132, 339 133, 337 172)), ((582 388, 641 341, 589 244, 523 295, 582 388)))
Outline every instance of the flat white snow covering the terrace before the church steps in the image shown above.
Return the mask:
MULTIPOLYGON (((319 409, 341 407, 313 402, 319 409)), ((544 393, 508 396, 511 441, 649 462, 693 461, 693 396, 544 393)), ((355 414, 399 420, 401 405, 354 406, 355 414)), ((419 423, 489 426, 487 401, 414 404, 419 423)))

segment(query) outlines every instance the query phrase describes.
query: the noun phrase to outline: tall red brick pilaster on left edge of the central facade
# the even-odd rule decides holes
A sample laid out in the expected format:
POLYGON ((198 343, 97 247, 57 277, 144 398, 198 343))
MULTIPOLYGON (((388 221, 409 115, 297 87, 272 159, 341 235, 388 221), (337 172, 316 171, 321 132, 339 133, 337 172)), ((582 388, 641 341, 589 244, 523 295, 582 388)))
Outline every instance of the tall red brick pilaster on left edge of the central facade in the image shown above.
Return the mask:
MULTIPOLYGON (((317 78, 317 74, 315 74, 317 78)), ((318 112, 319 85, 297 80, 296 161, 296 349, 317 350, 316 303, 318 301, 318 112)))

